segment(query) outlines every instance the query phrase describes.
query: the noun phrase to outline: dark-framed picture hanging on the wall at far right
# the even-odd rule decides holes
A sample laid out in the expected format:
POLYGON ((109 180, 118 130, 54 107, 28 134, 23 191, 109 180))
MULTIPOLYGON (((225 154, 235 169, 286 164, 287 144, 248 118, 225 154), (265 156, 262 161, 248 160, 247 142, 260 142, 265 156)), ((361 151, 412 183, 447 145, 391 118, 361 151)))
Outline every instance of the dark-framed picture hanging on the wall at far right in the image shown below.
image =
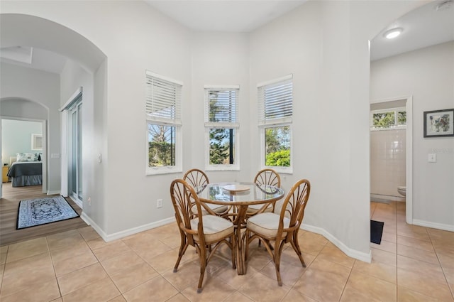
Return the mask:
POLYGON ((454 109, 424 112, 424 137, 454 136, 454 109))

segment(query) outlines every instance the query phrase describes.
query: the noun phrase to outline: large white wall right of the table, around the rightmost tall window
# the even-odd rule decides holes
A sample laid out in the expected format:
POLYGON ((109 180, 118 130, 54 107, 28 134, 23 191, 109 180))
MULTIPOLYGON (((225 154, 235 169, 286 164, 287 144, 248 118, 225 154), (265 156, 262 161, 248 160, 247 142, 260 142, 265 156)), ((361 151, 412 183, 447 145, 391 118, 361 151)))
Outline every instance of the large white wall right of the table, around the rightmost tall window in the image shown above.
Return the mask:
MULTIPOLYGON (((251 111, 257 82, 294 75, 297 155, 284 187, 311 180, 306 228, 360 259, 370 254, 368 41, 418 5, 308 2, 251 35, 251 111)), ((253 131, 251 137, 257 136, 253 131)))

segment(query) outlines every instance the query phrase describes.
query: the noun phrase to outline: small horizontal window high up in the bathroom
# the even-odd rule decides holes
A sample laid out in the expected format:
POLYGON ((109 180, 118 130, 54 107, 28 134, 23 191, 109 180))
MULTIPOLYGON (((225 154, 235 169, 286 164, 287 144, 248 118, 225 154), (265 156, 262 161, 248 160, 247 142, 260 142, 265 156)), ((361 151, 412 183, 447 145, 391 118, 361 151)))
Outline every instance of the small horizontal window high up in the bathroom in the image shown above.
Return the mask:
POLYGON ((370 112, 370 128, 372 130, 396 129, 405 125, 405 107, 372 110, 370 112))

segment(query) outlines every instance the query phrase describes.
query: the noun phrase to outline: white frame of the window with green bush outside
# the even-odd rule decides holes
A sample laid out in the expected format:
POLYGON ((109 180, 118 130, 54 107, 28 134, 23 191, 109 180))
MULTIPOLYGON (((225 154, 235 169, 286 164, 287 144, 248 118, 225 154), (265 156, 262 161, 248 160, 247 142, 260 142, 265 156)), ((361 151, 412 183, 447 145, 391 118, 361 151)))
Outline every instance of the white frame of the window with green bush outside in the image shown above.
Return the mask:
POLYGON ((257 85, 258 92, 258 129, 260 137, 260 167, 263 168, 272 168, 277 173, 292 174, 293 173, 293 75, 286 75, 284 77, 279 77, 275 80, 270 80, 267 82, 261 82, 257 85), (267 119, 265 117, 265 90, 267 87, 274 87, 279 84, 284 85, 285 83, 292 83, 292 115, 286 117, 279 117, 275 119, 267 119), (265 131, 268 128, 277 128, 281 126, 289 126, 289 139, 290 139, 290 166, 267 166, 266 163, 266 139, 265 131))

